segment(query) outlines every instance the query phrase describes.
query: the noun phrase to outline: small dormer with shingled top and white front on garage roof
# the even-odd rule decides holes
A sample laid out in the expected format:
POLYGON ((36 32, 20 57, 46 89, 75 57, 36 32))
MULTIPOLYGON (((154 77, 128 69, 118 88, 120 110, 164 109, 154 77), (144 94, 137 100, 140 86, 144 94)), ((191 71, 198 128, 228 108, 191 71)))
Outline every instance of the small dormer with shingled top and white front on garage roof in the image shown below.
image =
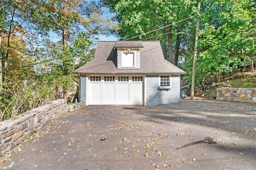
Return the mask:
POLYGON ((140 41, 117 41, 114 49, 117 51, 117 68, 140 68, 140 41))

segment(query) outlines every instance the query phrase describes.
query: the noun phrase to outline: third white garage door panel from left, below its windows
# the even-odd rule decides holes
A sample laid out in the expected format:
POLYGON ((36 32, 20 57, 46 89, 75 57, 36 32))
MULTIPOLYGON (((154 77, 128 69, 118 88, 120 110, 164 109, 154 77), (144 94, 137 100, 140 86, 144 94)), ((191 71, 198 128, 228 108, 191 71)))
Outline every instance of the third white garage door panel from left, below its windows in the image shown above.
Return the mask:
POLYGON ((117 104, 130 104, 129 102, 129 82, 118 82, 117 104))

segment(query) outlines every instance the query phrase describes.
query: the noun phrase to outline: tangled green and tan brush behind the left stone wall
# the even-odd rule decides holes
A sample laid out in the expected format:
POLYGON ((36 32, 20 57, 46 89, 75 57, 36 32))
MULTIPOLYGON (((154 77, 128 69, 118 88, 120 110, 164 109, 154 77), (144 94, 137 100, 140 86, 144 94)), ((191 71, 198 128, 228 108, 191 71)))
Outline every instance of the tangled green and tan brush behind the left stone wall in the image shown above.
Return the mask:
POLYGON ((35 80, 24 84, 4 84, 0 95, 0 121, 7 120, 52 100, 65 98, 70 102, 68 93, 76 91, 71 76, 38 75, 35 80))

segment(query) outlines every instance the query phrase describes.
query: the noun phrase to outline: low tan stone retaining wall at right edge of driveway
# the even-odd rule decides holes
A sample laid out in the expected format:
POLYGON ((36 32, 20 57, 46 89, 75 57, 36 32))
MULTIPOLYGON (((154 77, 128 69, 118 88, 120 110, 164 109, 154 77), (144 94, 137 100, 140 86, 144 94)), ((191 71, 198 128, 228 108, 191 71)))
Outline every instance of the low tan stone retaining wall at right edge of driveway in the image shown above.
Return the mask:
POLYGON ((256 103, 256 88, 217 88, 216 100, 256 103))

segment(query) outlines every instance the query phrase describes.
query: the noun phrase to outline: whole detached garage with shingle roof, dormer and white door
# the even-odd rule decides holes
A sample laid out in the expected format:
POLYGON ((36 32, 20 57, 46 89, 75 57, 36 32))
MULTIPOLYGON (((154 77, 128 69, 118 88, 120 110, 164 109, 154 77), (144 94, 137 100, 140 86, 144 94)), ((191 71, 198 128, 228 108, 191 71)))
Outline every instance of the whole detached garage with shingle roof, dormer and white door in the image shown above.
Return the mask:
POLYGON ((180 74, 159 41, 98 41, 94 59, 74 71, 86 105, 158 105, 180 102, 180 74))

